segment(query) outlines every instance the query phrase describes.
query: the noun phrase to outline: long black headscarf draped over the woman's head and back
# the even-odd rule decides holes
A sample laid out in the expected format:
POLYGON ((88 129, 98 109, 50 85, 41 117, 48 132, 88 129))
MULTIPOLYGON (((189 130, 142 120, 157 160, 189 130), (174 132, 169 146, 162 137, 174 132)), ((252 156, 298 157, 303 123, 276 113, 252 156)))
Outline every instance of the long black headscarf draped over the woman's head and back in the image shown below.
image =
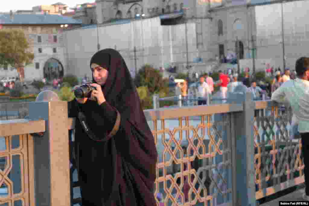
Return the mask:
MULTIPOLYGON (((111 148, 114 148, 111 154, 121 153, 122 172, 127 175, 125 179, 126 181, 134 179, 132 183, 127 183, 126 187, 131 187, 129 190, 135 191, 135 195, 149 197, 153 195, 151 189, 148 190, 148 188, 153 187, 155 181, 155 165, 158 156, 154 137, 146 121, 129 69, 120 53, 114 49, 104 49, 95 53, 91 58, 90 67, 92 64, 108 70, 108 78, 101 86, 102 91, 106 102, 116 108, 121 116, 122 132, 116 133, 111 139, 112 143, 108 143, 115 144, 115 146, 111 145, 111 148), (128 169, 130 167, 131 170, 128 169), (141 175, 144 175, 146 179, 141 179, 141 175), (136 186, 132 188, 132 185, 139 185, 137 187, 139 189, 135 188, 136 186)), ((95 82, 93 76, 92 80, 95 82)), ((115 177, 114 184, 121 182, 117 180, 119 178, 122 177, 115 177)), ((135 197, 134 201, 142 201, 139 200, 142 196, 135 197)), ((154 198, 151 197, 143 201, 143 205, 146 206, 155 203, 154 198)))

